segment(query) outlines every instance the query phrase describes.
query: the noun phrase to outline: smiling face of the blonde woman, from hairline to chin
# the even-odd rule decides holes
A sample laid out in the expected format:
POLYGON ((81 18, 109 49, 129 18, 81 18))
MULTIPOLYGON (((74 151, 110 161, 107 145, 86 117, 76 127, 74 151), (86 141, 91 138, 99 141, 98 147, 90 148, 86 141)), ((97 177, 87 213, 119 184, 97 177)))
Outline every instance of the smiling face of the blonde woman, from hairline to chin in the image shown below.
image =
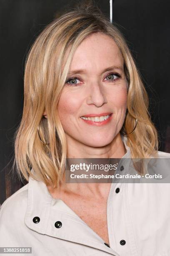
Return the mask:
POLYGON ((67 143, 102 147, 119 133, 127 108, 123 64, 107 35, 94 33, 78 46, 57 106, 67 143))

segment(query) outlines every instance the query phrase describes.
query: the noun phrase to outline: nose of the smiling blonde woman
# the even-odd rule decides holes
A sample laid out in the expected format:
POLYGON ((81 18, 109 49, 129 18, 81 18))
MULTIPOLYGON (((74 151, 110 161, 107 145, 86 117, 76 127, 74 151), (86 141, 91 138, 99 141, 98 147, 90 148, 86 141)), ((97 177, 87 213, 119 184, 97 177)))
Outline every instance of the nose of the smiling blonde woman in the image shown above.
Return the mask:
POLYGON ((89 95, 87 97, 87 104, 94 104, 96 107, 101 107, 104 103, 107 103, 104 95, 102 84, 95 82, 89 84, 89 95))

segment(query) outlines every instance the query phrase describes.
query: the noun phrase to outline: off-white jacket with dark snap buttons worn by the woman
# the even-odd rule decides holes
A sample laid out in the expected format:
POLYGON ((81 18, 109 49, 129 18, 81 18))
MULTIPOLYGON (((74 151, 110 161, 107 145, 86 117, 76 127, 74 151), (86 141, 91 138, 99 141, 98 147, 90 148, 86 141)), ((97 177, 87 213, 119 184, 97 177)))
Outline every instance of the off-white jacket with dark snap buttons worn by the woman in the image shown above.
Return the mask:
MULTIPOLYGON (((129 171, 125 137, 124 144, 121 173, 129 171)), ((170 256, 170 184, 112 183, 107 227, 110 247, 43 182, 30 178, 0 208, 0 247, 32 247, 25 255, 34 256, 170 256)))

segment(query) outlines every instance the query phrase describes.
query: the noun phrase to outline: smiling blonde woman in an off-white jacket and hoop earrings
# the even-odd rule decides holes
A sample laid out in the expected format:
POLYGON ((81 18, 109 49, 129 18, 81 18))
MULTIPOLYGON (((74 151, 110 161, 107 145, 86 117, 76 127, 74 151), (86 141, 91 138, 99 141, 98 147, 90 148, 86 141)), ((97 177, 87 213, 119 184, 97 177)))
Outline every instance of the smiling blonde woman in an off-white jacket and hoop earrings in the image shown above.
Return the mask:
POLYGON ((65 182, 66 157, 120 159, 123 174, 127 158, 170 157, 158 151, 148 96, 118 29, 91 7, 54 20, 29 52, 24 92, 15 161, 29 183, 1 206, 0 246, 170 255, 169 184, 65 182))

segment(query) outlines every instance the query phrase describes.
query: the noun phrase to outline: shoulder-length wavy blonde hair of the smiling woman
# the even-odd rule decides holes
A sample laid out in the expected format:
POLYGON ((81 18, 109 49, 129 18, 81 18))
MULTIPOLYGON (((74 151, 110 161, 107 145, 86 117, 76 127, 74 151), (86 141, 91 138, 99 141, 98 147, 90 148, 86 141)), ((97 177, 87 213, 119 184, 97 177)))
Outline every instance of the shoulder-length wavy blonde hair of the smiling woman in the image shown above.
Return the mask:
POLYGON ((132 158, 148 158, 151 154, 157 154, 158 134, 148 112, 148 95, 124 37, 98 8, 80 6, 53 20, 40 33, 28 53, 23 117, 15 133, 13 164, 16 164, 20 179, 28 181, 31 176, 53 187, 62 182, 67 148, 57 103, 77 46, 96 32, 110 36, 124 58, 128 111, 120 133, 130 133, 135 126, 135 119, 138 119, 134 133, 127 136, 132 158), (44 111, 48 118, 43 117, 44 111), (42 141, 49 144, 40 141, 38 126, 42 141), (35 175, 30 172, 31 169, 35 175))

